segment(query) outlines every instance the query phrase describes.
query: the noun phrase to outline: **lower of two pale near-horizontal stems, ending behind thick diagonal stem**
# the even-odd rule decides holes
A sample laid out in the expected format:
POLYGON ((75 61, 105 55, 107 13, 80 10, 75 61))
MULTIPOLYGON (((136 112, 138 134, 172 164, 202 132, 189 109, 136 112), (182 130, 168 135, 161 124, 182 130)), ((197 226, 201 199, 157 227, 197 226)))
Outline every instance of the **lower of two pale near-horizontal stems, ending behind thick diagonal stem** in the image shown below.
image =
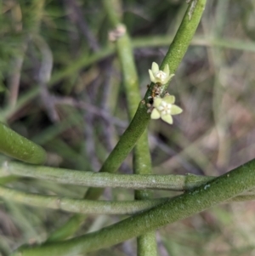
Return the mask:
POLYGON ((125 215, 140 213, 169 200, 168 198, 158 198, 135 202, 93 201, 59 196, 42 196, 22 191, 15 191, 3 187, 2 185, 0 185, 0 197, 8 202, 21 202, 29 206, 59 209, 70 213, 125 215))

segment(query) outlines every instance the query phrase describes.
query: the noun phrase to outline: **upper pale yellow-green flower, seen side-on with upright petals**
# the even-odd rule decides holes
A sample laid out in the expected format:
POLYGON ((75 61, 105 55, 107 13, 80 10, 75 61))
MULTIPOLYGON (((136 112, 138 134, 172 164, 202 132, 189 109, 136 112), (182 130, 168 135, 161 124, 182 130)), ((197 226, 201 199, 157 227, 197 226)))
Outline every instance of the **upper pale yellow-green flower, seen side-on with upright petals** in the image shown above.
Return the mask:
POLYGON ((159 66, 156 62, 152 62, 151 70, 149 70, 150 81, 151 82, 159 82, 161 84, 166 84, 169 80, 174 76, 174 74, 170 74, 169 65, 165 65, 164 70, 160 71, 159 66))

